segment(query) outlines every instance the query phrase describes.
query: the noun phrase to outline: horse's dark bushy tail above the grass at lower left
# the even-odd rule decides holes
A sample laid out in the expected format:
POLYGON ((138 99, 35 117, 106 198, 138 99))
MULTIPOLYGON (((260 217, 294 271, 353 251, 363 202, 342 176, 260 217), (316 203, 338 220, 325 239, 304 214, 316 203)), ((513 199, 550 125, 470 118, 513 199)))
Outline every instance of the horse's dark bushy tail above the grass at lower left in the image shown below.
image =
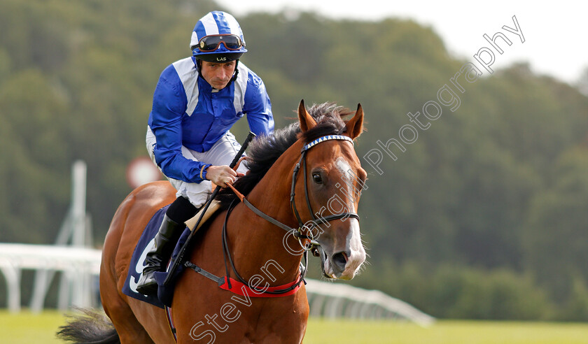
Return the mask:
POLYGON ((83 314, 71 316, 66 325, 59 327, 58 338, 78 344, 120 344, 116 329, 106 315, 88 309, 81 311, 83 314))

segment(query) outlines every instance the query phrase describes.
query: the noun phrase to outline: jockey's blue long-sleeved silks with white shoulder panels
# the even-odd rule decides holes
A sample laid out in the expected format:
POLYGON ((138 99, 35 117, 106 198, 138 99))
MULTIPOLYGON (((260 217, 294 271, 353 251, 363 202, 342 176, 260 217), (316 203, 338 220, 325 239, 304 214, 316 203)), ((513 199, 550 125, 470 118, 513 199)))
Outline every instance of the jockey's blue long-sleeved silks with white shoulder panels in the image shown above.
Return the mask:
POLYGON ((273 133, 272 104, 265 85, 244 64, 239 63, 238 69, 237 79, 221 90, 199 76, 193 57, 174 62, 162 72, 148 125, 157 141, 155 161, 167 177, 201 182, 205 162, 183 157, 182 145, 206 152, 244 115, 255 135, 273 133))

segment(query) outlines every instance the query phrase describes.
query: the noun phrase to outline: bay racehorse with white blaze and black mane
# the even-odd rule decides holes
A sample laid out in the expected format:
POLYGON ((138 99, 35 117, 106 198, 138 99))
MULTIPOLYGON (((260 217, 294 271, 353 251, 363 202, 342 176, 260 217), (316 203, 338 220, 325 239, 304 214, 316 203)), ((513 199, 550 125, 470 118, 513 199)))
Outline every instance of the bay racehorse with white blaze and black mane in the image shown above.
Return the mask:
POLYGON ((62 329, 70 335, 76 329, 95 331, 92 343, 301 343, 309 315, 300 283, 303 252, 319 245, 326 278, 351 279, 360 270, 365 250, 356 211, 366 173, 353 149, 353 139, 363 131, 359 104, 346 121, 342 117, 353 112, 333 103, 307 110, 301 101, 297 113, 298 123, 251 143, 250 171, 235 182, 259 213, 224 192, 223 210, 196 233, 188 253, 188 261, 214 275, 242 276, 249 292, 234 294, 186 269, 171 307, 176 339, 165 310, 121 292, 141 231, 176 197, 169 182, 153 182, 127 196, 106 235, 100 294, 110 329, 92 328, 97 327, 92 321, 62 329), (297 280, 299 289, 287 296, 257 297, 297 280))

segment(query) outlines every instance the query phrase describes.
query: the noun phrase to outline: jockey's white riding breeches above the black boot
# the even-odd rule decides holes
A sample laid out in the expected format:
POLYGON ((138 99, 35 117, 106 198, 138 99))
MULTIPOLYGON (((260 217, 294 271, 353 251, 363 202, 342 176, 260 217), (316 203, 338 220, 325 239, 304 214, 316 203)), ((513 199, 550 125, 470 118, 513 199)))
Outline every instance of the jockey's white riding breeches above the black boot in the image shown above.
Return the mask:
MULTIPOLYGON (((150 127, 147 127, 147 151, 149 157, 151 157, 151 160, 153 160, 154 163, 155 155, 153 149, 155 148, 155 142, 156 140, 153 131, 151 131, 150 127)), ((207 152, 195 152, 194 150, 182 146, 182 155, 186 157, 186 159, 194 160, 196 162, 221 166, 229 165, 232 162, 232 159, 235 158, 235 155, 239 152, 239 149, 241 149, 241 145, 235 139, 235 135, 231 134, 230 131, 227 131, 227 134, 221 137, 220 140, 216 141, 212 148, 207 152)), ((155 166, 157 166, 157 163, 155 163, 155 166)), ((159 166, 158 169, 160 169, 159 166)), ((239 165, 237 172, 246 173, 247 168, 244 164, 241 164, 239 165)), ((167 179, 169 179, 169 182, 171 182, 176 190, 178 190, 176 196, 186 197, 190 203, 197 208, 200 208, 207 201, 212 188, 210 180, 203 180, 202 182, 197 183, 184 182, 169 177, 167 177, 167 179)))

